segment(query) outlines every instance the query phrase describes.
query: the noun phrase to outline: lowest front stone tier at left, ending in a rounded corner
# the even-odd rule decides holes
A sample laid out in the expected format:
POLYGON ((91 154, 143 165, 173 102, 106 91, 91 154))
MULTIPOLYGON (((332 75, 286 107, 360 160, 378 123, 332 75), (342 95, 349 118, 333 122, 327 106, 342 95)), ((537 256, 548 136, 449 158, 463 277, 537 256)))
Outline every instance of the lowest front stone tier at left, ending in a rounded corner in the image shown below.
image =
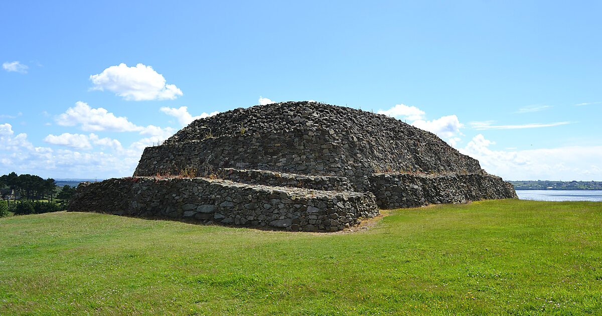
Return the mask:
POLYGON ((154 177, 80 185, 68 209, 313 232, 340 231, 378 214, 371 193, 154 177))

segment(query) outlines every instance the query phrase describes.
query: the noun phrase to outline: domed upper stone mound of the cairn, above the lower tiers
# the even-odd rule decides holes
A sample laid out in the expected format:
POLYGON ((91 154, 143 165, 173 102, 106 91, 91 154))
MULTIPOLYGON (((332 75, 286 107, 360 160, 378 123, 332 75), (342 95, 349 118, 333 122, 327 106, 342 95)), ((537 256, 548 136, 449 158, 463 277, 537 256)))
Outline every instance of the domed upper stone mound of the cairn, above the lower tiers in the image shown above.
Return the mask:
POLYGON ((197 119, 144 150, 134 175, 187 167, 347 176, 356 185, 378 172, 483 173, 477 160, 430 132, 381 114, 307 101, 197 119))

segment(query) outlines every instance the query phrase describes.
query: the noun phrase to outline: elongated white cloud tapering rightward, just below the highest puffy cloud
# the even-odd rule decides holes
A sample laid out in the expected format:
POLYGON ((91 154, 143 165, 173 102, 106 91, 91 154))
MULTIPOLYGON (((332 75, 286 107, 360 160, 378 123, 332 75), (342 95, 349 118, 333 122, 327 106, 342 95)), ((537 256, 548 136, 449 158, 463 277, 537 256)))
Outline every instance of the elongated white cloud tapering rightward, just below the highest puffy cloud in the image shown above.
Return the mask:
POLYGON ((78 101, 75 107, 68 108, 65 113, 56 117, 56 122, 61 126, 79 125, 83 131, 112 131, 112 132, 139 132, 141 135, 157 135, 164 137, 173 135, 173 128, 160 128, 158 126, 138 126, 129 122, 125 116, 115 116, 105 108, 92 108, 85 102, 78 101))

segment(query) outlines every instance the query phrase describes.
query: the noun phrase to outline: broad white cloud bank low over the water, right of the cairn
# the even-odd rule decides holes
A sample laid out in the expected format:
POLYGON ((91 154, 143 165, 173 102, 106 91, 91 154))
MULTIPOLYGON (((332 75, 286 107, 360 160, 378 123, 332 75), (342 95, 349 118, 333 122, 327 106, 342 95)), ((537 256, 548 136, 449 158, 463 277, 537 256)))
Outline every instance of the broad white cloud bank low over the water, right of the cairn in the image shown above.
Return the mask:
POLYGON ((494 144, 479 134, 459 150, 506 180, 602 180, 602 146, 492 150, 494 144))

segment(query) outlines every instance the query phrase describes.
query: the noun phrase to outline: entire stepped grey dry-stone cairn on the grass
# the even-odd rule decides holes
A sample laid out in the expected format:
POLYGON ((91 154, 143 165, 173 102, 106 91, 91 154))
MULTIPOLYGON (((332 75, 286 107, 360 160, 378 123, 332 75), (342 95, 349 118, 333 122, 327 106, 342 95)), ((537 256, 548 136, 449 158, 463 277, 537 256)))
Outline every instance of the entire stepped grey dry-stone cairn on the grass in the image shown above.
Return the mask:
POLYGON ((379 208, 516 198, 436 135, 318 102, 237 108, 147 147, 133 177, 82 184, 70 211, 340 231, 379 208))

